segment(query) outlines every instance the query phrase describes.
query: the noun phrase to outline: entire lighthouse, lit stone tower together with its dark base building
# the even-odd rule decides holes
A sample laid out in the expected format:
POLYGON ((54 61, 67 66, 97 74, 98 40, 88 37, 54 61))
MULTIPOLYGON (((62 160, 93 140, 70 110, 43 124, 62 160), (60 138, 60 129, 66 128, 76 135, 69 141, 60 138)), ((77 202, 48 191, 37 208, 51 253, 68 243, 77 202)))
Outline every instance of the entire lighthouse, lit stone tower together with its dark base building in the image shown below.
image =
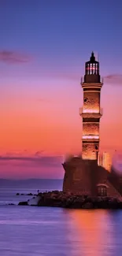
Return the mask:
POLYGON ((102 80, 99 75, 99 62, 92 52, 85 65, 83 87, 82 156, 67 158, 62 164, 65 169, 63 191, 68 194, 109 196, 122 199, 122 177, 113 169, 109 172, 99 165, 99 127, 102 109, 100 94, 102 80))

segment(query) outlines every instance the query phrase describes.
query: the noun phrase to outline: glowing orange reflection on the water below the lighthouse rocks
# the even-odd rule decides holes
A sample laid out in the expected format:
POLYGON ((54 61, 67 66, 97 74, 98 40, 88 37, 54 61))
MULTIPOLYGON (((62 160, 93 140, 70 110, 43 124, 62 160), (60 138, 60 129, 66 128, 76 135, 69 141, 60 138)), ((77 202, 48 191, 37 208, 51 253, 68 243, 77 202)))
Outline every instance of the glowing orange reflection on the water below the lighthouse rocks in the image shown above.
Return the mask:
MULTIPOLYGON (((76 256, 105 256, 113 244, 113 228, 109 224, 107 210, 71 210, 68 212, 75 236, 68 239, 74 243, 76 256)), ((74 255, 74 253, 72 253, 74 255)))

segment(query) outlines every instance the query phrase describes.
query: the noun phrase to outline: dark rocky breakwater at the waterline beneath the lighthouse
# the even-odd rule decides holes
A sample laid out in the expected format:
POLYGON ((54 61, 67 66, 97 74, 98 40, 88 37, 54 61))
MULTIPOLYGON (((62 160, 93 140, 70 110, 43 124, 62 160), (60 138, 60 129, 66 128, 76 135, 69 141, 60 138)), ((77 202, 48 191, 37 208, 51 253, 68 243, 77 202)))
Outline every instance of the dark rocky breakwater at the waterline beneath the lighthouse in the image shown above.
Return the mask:
POLYGON ((37 197, 31 200, 20 202, 19 205, 50 206, 69 209, 122 209, 122 202, 117 198, 91 198, 88 195, 68 195, 62 191, 39 193, 37 197))

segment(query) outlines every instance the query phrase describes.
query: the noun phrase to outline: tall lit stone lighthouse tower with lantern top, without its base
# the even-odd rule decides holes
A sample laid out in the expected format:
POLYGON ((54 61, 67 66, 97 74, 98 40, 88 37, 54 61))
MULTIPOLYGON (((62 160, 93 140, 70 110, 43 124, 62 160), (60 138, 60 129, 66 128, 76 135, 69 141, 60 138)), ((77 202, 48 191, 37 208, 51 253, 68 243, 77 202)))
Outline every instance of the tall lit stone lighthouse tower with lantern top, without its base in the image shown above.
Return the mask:
POLYGON ((100 107, 102 80, 99 74, 99 62, 91 53, 90 61, 85 64, 85 75, 81 81, 83 88, 83 107, 80 116, 83 118, 82 158, 98 159, 99 126, 102 117, 100 107))

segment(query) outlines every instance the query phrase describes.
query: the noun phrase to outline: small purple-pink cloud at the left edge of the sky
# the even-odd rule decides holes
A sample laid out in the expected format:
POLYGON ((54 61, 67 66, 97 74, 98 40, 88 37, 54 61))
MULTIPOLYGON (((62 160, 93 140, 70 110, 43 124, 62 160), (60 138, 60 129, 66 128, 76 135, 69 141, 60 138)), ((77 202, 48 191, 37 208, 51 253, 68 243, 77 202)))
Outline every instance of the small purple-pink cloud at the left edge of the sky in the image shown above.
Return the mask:
POLYGON ((2 50, 0 51, 0 61, 9 64, 16 63, 26 63, 29 62, 31 58, 26 54, 20 54, 14 51, 2 50))

